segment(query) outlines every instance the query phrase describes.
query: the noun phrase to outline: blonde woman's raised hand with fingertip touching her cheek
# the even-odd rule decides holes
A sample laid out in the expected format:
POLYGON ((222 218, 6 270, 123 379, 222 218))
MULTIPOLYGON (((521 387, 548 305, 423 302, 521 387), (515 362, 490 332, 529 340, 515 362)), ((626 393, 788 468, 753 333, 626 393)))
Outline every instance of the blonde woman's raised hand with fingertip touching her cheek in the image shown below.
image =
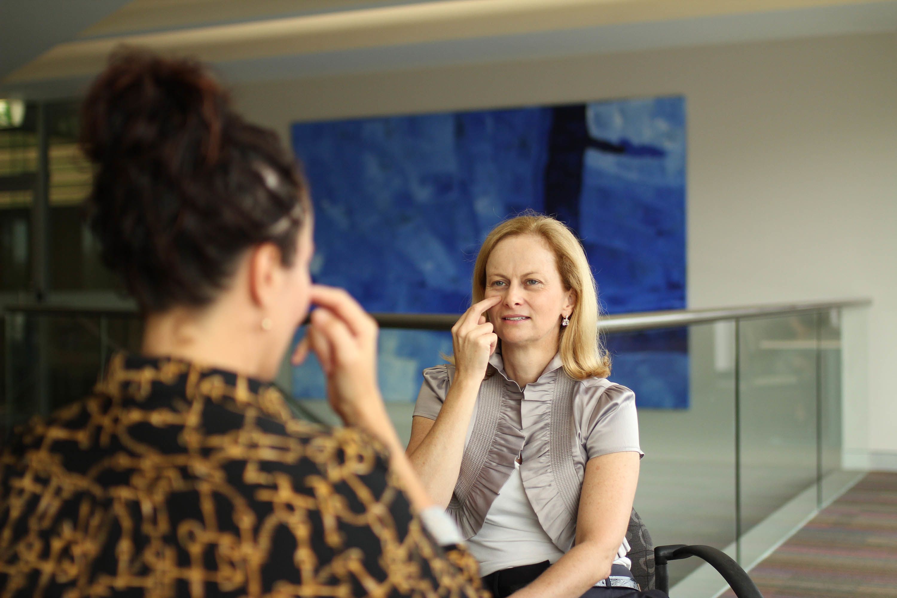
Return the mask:
POLYGON ((457 377, 482 380, 486 375, 489 357, 495 352, 499 337, 492 332, 492 324, 486 322, 484 314, 500 302, 499 296, 483 299, 470 306, 452 326, 451 338, 455 349, 457 377))

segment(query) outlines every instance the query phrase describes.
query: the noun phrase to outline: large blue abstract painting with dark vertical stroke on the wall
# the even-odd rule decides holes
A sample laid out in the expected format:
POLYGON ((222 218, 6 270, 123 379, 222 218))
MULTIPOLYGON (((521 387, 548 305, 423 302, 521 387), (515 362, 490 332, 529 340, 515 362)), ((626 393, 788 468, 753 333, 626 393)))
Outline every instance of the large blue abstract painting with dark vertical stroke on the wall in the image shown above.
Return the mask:
MULTIPOLYGON (((685 307, 682 97, 296 123, 292 145, 316 209, 312 273, 370 311, 460 314, 483 238, 527 208, 576 231, 607 312, 685 307)), ((640 406, 687 407, 685 334, 608 339, 612 379, 640 406)), ((385 398, 414 401, 440 351, 448 333, 381 331, 385 398)), ((313 361, 293 394, 325 396, 313 361)))

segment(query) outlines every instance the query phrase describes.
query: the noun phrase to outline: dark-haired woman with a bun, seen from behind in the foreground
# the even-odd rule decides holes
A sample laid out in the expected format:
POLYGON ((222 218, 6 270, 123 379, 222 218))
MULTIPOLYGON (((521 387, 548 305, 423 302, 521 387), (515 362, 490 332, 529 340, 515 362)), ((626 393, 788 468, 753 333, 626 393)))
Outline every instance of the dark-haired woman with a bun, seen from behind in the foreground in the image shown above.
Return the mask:
POLYGON ((128 51, 82 144, 143 350, 0 455, 4 595, 479 594, 388 420, 377 325, 310 281, 308 189, 274 133, 200 65, 128 51), (270 383, 311 304, 294 360, 317 353, 345 429, 296 420, 270 383))

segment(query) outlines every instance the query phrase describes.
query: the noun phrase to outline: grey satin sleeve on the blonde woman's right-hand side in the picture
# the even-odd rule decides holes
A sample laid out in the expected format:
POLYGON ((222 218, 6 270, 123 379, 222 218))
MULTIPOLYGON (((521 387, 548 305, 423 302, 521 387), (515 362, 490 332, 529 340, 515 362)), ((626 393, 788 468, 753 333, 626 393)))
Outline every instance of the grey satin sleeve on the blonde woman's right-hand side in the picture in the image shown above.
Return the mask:
POLYGON ((644 456, 639 444, 639 416, 635 393, 626 386, 584 388, 583 436, 588 459, 609 453, 634 451, 644 456))

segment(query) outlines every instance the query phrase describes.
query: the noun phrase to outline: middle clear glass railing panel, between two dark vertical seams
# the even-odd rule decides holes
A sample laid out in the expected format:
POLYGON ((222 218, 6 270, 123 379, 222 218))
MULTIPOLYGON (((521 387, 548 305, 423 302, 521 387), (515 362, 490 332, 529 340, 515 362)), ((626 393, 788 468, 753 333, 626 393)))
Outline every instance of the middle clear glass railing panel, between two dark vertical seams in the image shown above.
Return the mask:
POLYGON ((751 565, 817 504, 817 315, 739 324, 740 559, 751 565), (758 525, 763 523, 762 525, 758 525))

